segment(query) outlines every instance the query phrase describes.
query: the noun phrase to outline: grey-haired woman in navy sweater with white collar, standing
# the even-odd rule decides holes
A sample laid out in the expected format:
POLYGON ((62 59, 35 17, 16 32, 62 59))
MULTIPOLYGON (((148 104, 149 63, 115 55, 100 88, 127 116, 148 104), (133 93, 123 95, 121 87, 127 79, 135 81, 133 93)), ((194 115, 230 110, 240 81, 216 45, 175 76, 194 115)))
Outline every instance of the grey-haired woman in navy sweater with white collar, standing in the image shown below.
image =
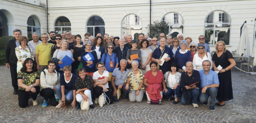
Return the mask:
POLYGON ((191 52, 186 49, 187 41, 180 41, 180 50, 177 50, 175 53, 175 61, 178 63, 179 72, 182 73, 185 70, 182 69, 183 66, 186 66, 186 62, 191 61, 191 52))

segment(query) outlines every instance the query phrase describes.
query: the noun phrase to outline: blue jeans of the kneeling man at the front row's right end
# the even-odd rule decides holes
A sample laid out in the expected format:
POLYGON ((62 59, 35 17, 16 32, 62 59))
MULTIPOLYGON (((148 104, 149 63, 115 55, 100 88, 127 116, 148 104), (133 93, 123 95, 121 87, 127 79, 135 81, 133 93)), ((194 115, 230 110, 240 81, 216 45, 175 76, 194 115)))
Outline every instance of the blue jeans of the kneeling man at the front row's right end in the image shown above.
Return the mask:
POLYGON ((218 93, 217 88, 207 88, 205 93, 201 93, 199 100, 200 102, 207 102, 209 96, 211 96, 210 106, 214 106, 217 93, 218 93))

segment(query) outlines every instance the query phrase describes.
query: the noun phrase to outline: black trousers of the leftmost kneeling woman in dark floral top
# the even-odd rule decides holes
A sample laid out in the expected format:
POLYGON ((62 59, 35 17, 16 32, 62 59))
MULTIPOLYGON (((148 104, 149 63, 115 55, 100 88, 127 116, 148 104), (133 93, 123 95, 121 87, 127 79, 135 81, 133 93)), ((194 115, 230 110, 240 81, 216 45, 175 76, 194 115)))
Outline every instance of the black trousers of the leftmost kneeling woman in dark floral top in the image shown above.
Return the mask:
POLYGON ((18 90, 18 100, 19 100, 19 106, 21 108, 25 108, 28 106, 28 100, 29 98, 31 97, 33 100, 36 100, 37 98, 37 95, 39 94, 40 92, 40 87, 39 86, 36 86, 34 87, 36 88, 36 92, 33 93, 31 91, 29 92, 26 92, 25 90, 18 90))

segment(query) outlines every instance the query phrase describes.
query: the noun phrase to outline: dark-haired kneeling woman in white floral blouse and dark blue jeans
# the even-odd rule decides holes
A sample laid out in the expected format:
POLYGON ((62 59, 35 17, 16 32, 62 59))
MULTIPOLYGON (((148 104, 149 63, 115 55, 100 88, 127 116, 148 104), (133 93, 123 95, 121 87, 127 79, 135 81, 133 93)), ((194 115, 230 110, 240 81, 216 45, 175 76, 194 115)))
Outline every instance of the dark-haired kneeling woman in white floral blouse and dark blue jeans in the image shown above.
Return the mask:
POLYGON ((174 94, 173 104, 178 103, 178 96, 180 94, 180 77, 181 73, 178 72, 178 64, 172 63, 171 70, 165 73, 165 84, 167 85, 167 92, 163 92, 168 100, 171 100, 171 95, 174 94))

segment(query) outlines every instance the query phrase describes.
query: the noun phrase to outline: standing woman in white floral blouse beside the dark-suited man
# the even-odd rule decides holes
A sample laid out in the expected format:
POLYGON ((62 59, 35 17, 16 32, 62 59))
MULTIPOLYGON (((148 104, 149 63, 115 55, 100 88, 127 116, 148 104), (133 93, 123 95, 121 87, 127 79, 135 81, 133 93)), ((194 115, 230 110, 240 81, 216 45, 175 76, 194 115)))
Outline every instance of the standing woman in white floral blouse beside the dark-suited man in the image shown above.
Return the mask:
POLYGON ((22 65, 26 58, 32 58, 33 60, 35 58, 31 48, 26 45, 27 43, 28 43, 28 37, 21 36, 19 38, 19 44, 21 45, 15 48, 15 54, 18 58, 17 73, 19 72, 19 70, 21 70, 21 67, 23 67, 22 65))

